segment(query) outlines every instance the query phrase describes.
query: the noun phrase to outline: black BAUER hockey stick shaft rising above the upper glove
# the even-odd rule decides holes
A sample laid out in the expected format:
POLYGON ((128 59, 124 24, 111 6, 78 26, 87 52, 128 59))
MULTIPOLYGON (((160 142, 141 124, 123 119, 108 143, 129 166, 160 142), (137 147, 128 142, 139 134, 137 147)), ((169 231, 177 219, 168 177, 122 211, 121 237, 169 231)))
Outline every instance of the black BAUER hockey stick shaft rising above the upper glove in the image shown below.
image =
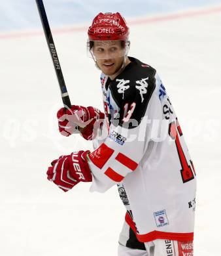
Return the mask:
POLYGON ((65 80, 63 79, 61 65, 59 64, 58 54, 56 52, 56 47, 54 45, 52 32, 50 31, 50 26, 49 26, 48 18, 46 16, 46 12, 44 9, 44 4, 43 4, 42 0, 36 0, 36 3, 37 3, 37 7, 39 9, 39 15, 41 17, 41 23, 42 23, 42 27, 44 29, 44 35, 45 35, 46 41, 48 43, 48 49, 50 51, 50 55, 52 56, 52 61, 54 63, 54 69, 55 69, 56 75, 58 77, 58 83, 59 83, 59 87, 61 90, 61 97, 62 97, 63 105, 66 109, 71 108, 71 101, 70 101, 69 95, 67 93, 67 87, 65 85, 65 80))

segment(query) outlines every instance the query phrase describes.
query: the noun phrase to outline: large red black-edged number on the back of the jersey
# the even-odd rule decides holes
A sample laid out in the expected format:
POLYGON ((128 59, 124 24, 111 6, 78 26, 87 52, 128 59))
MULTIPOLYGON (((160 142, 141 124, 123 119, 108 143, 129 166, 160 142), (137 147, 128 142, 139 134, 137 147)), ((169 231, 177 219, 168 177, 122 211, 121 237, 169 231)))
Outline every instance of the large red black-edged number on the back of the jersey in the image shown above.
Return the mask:
POLYGON ((179 135, 180 137, 182 136, 182 130, 180 128, 179 122, 178 120, 173 121, 172 123, 169 124, 169 136, 175 140, 176 146, 177 146, 177 153, 180 159, 180 164, 182 169, 180 170, 181 173, 181 177, 182 177, 182 182, 188 182, 191 181, 192 179, 194 179, 194 174, 195 173, 195 169, 194 169, 194 164, 192 161, 190 161, 192 168, 190 167, 190 165, 188 165, 188 162, 186 160, 186 156, 182 150, 182 146, 180 144, 180 139, 179 139, 179 135), (177 133, 178 131, 178 133, 177 133), (194 173, 192 171, 192 169, 194 170, 194 173))

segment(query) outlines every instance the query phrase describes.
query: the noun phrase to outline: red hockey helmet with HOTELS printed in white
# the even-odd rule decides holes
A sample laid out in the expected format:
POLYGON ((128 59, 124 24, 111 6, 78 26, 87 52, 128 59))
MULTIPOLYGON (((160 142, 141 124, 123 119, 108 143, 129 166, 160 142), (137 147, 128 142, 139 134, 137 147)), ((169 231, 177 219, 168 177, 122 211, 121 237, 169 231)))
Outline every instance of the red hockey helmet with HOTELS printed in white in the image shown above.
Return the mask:
POLYGON ((100 12, 88 29, 89 41, 126 40, 128 36, 129 28, 119 12, 100 12))

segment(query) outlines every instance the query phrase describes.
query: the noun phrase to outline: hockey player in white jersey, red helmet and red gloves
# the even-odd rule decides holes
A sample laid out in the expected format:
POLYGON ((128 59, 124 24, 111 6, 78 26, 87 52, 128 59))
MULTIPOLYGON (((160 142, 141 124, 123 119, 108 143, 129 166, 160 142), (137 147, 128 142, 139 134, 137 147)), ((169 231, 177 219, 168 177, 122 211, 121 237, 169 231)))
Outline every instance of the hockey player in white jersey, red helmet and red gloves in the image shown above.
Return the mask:
POLYGON ((156 70, 127 56, 129 28, 117 13, 99 13, 88 52, 101 74, 105 114, 93 107, 58 111, 59 131, 76 125, 95 150, 60 156, 48 179, 64 191, 92 182, 117 185, 126 206, 119 256, 193 255, 196 173, 171 100, 156 70))

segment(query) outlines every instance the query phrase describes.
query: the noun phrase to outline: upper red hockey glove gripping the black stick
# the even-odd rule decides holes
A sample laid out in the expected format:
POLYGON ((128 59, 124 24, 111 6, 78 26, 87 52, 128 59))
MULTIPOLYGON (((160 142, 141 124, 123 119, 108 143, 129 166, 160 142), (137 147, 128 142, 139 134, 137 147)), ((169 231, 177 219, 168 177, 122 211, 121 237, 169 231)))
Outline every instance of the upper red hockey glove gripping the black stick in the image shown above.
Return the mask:
POLYGON ((103 125, 105 114, 97 108, 89 106, 71 106, 66 110, 61 108, 58 113, 59 132, 63 136, 69 136, 76 133, 76 126, 84 139, 92 140, 96 137, 98 129, 103 125))

